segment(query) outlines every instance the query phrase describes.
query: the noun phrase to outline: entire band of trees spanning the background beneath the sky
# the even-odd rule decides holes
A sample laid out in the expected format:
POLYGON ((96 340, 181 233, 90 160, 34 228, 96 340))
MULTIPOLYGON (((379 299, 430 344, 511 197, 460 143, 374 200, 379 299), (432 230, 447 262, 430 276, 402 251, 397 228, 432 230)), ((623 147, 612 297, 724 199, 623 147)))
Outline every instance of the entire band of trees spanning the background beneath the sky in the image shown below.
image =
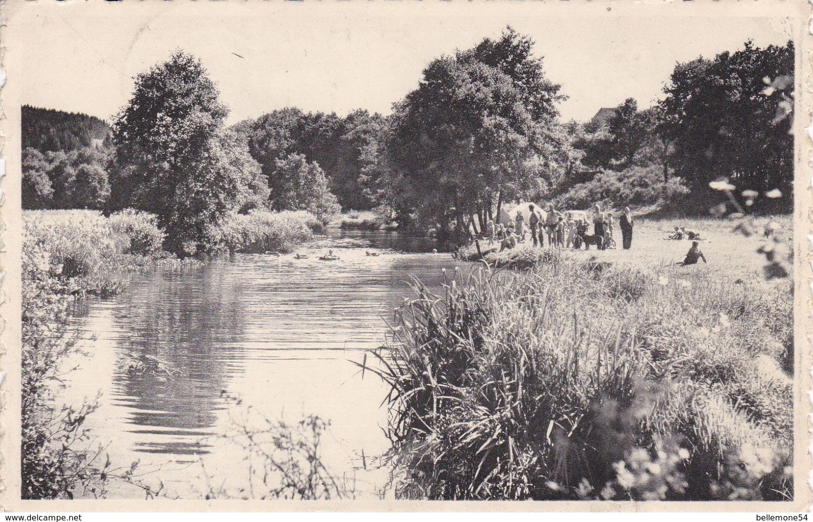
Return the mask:
POLYGON ((533 41, 506 28, 434 59, 389 116, 289 107, 226 128, 228 109, 202 64, 177 51, 137 76, 112 128, 24 109, 24 207, 150 211, 179 252, 211 242, 221 216, 254 208, 323 220, 340 207, 381 208, 403 228, 454 236, 518 199, 584 207, 586 198, 647 204, 690 191, 700 203, 692 210, 705 212, 703 194, 721 177, 780 189, 787 208, 793 63, 793 42, 746 42, 678 63, 654 107, 629 98, 606 118, 562 122, 560 85, 533 41))

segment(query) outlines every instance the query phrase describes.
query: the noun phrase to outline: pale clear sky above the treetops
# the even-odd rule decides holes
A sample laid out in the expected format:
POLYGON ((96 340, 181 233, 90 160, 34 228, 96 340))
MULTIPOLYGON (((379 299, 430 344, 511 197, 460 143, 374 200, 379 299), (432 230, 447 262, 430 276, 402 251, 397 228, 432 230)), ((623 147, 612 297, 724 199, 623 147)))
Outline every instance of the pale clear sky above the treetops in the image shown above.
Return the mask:
POLYGON ((568 97, 559 107, 563 119, 589 120, 625 98, 649 107, 677 62, 737 50, 747 39, 784 44, 791 33, 779 17, 667 20, 597 10, 575 18, 527 2, 470 10, 440 3, 328 9, 284 2, 265 11, 208 14, 172 8, 125 13, 116 11, 122 2, 104 3, 92 15, 43 9, 21 20, 24 103, 110 120, 128 101, 133 77, 180 48, 202 59, 231 109, 229 124, 288 106, 389 114, 430 60, 498 37, 511 25, 533 37, 547 76, 562 85, 568 97))

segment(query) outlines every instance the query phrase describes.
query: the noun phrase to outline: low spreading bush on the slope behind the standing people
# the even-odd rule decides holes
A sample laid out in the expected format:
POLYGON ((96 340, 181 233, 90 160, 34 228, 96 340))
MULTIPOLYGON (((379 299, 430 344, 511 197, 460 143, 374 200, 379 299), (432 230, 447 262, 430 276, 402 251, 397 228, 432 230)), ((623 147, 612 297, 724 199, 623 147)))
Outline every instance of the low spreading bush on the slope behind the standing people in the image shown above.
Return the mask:
POLYGON ((593 181, 574 185, 552 202, 567 209, 589 209, 597 202, 611 208, 646 207, 674 202, 688 193, 680 178, 664 182, 661 167, 628 167, 599 172, 593 181))

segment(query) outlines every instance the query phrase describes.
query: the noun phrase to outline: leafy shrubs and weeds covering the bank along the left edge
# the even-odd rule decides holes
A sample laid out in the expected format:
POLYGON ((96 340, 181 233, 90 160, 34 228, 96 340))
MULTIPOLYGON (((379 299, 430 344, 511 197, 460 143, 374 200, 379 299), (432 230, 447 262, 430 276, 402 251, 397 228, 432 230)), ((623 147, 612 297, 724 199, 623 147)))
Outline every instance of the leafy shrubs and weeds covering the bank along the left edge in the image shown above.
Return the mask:
POLYGON ((76 354, 70 311, 77 294, 111 294, 111 275, 128 237, 89 211, 26 211, 22 249, 21 472, 23 498, 103 496, 107 479, 128 480, 134 467, 117 469, 94 447, 84 427, 95 401, 60 405, 54 387, 76 354))

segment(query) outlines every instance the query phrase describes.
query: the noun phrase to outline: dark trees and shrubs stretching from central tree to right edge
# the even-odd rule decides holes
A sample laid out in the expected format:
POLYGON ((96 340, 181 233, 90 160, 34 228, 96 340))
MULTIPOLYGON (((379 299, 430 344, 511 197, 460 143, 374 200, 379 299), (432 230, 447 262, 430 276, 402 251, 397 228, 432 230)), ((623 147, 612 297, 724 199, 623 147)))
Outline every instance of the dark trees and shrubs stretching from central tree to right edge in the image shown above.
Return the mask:
POLYGON ((680 178, 684 193, 691 194, 680 202, 684 209, 707 211, 709 183, 724 178, 762 194, 779 189, 785 197, 763 200, 763 207, 789 210, 793 63, 793 41, 764 49, 746 41, 734 53, 678 63, 663 89, 665 98, 654 107, 641 111, 628 98, 606 120, 570 122, 580 168, 552 195, 598 177, 606 181, 608 172, 623 173, 623 181, 646 171, 652 179, 654 167, 660 167, 664 185, 680 178))

